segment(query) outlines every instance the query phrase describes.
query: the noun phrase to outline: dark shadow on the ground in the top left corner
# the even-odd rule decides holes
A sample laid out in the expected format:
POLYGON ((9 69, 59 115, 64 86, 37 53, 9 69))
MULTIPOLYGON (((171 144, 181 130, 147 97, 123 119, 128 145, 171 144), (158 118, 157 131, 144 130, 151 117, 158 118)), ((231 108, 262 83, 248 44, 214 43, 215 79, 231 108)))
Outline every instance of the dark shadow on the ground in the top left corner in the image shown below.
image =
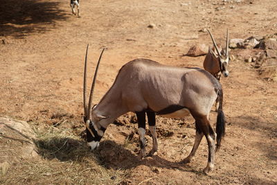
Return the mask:
POLYGON ((55 21, 66 19, 66 12, 59 7, 60 1, 1 0, 0 4, 0 36, 44 33, 55 28, 55 21))

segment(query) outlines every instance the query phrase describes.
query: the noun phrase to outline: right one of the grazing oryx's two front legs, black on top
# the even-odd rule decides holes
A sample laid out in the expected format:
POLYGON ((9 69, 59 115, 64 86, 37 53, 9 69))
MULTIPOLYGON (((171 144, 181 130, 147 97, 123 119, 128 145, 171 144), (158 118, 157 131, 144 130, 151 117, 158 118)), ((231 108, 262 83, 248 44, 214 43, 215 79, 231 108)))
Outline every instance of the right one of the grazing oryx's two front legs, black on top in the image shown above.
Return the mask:
POLYGON ((155 118, 154 112, 146 112, 146 113, 148 116, 149 130, 151 132, 152 140, 153 140, 152 150, 150 150, 148 156, 152 156, 158 150, 158 140, 157 140, 157 134, 156 134, 156 118, 155 118))

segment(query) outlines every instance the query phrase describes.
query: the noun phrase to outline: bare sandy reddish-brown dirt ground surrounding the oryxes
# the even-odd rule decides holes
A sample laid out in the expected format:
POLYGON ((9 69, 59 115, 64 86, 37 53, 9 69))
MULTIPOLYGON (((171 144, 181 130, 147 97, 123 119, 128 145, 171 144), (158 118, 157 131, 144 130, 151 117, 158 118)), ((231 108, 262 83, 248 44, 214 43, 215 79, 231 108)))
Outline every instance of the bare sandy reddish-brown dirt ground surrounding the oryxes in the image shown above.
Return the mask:
MULTIPOLYGON (((143 161, 136 159, 139 142, 131 114, 109 126, 96 152, 87 152, 81 138, 87 44, 91 73, 102 47, 107 47, 96 84, 94 102, 98 103, 120 67, 134 58, 202 67, 203 56, 182 55, 193 44, 211 44, 208 34, 199 31, 203 28, 209 28, 223 45, 226 28, 230 38, 276 33, 277 1, 80 3, 78 18, 71 15, 69 0, 1 1, 0 116, 27 121, 37 133, 35 143, 41 157, 12 161, 9 157, 17 155, 16 147, 10 144, 10 151, 0 148, 0 160, 9 164, 0 184, 277 183, 277 83, 262 80, 256 69, 242 60, 231 61, 230 76, 221 81, 226 136, 209 175, 202 173, 206 139, 195 161, 178 164, 193 146, 193 118, 158 117, 158 155, 143 161), (150 24, 154 28, 149 28, 150 24)), ((215 115, 211 112, 211 123, 215 123, 215 115)), ((147 139, 150 150, 152 140, 150 136, 147 139)))

